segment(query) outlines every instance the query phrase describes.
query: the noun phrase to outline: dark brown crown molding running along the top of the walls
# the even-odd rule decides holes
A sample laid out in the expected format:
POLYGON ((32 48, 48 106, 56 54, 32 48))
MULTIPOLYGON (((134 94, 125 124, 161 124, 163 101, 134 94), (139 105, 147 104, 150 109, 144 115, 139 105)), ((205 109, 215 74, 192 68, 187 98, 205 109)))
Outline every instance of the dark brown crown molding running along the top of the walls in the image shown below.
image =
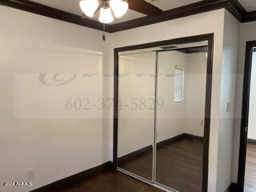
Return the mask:
MULTIPOLYGON (((40 14, 49 18, 55 18, 65 22, 71 22, 80 26, 86 26, 95 30, 102 30, 100 22, 89 18, 82 18, 76 14, 70 14, 63 10, 54 9, 50 6, 31 2, 29 0, 0 0, 0 5, 10 6, 18 10, 25 10, 30 13, 40 14)), ((158 22, 165 22, 175 18, 182 18, 193 14, 201 14, 210 10, 226 9, 238 18, 240 22, 256 21, 256 11, 246 12, 238 0, 204 0, 187 6, 181 6, 172 10, 166 10, 158 17, 142 17, 127 22, 120 22, 114 25, 106 25, 106 32, 114 33, 121 30, 129 30, 140 26, 147 26, 158 22)))

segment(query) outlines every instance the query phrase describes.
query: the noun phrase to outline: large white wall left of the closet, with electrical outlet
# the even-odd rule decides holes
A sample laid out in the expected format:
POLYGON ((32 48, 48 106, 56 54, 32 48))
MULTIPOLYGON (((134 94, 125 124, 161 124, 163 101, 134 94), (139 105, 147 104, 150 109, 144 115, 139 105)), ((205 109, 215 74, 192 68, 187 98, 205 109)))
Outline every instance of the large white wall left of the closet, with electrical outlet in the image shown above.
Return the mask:
POLYGON ((32 187, 0 191, 32 190, 109 161, 102 111, 65 109, 68 98, 102 98, 102 33, 6 6, 0 23, 0 181, 26 182, 35 169, 32 187), (56 73, 64 74, 57 82, 78 77, 44 86, 42 73, 48 82, 56 73))

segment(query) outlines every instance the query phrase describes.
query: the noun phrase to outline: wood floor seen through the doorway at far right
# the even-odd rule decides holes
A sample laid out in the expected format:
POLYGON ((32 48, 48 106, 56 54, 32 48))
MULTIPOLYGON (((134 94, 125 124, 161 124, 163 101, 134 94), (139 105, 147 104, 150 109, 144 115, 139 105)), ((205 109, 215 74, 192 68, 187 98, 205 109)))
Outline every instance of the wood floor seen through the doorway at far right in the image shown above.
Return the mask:
POLYGON ((245 192, 256 191, 256 143, 247 143, 245 192))

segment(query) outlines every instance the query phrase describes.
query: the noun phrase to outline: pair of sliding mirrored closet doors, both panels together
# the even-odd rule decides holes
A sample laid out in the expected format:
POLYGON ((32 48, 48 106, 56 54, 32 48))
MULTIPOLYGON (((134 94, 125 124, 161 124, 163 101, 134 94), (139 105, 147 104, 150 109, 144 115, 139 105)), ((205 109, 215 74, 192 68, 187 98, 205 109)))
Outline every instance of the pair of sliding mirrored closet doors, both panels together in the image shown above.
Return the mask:
POLYGON ((206 40, 118 51, 118 170, 166 190, 206 191, 209 54, 206 40))

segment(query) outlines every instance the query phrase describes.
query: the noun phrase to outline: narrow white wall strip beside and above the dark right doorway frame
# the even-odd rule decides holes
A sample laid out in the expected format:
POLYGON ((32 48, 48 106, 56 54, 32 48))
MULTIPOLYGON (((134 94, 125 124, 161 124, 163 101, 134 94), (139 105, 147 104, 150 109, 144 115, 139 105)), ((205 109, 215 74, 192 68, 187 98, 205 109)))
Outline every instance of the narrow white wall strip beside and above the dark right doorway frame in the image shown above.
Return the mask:
POLYGON ((243 73, 246 59, 246 42, 256 40, 256 22, 240 24, 239 62, 237 74, 235 130, 234 130, 234 155, 233 155, 233 182, 238 179, 238 156, 240 145, 241 115, 242 115, 242 87, 243 73))

